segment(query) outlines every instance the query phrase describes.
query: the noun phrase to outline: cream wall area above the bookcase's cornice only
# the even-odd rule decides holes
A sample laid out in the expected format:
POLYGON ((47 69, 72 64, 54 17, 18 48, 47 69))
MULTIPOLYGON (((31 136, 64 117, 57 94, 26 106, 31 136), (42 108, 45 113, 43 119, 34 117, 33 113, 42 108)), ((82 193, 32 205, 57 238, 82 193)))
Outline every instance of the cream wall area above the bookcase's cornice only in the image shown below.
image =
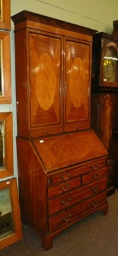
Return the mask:
POLYGON ((22 10, 40 13, 98 31, 112 33, 117 0, 11 0, 11 15, 22 10))

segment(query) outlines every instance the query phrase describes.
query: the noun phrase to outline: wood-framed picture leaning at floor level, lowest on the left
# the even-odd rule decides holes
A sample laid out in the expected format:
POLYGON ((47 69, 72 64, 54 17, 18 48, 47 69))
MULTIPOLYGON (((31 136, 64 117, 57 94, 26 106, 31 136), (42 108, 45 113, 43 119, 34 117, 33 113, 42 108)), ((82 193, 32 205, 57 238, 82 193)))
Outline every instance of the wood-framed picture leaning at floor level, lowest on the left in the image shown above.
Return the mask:
POLYGON ((0 250, 22 239, 17 179, 0 182, 0 250))

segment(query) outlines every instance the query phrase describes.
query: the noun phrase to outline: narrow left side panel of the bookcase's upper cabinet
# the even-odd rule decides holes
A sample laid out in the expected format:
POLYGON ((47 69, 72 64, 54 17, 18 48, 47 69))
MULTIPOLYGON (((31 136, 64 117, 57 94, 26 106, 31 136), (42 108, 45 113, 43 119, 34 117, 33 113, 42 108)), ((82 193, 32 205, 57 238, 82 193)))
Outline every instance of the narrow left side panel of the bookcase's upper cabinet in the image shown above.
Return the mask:
POLYGON ((26 31, 15 33, 15 70, 17 97, 18 134, 27 137, 27 64, 26 64, 26 31))

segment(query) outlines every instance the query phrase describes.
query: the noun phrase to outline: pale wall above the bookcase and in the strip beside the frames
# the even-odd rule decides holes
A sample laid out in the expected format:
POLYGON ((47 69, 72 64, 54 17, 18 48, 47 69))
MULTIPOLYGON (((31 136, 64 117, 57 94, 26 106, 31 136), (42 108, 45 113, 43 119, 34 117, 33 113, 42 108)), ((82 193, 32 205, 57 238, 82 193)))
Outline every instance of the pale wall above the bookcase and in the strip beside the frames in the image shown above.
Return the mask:
MULTIPOLYGON (((112 33, 113 20, 118 17, 117 0, 11 0, 11 16, 28 10, 54 17, 55 19, 79 24, 87 28, 112 33)), ((15 49, 14 25, 11 21, 11 93, 10 105, 0 105, 0 112, 13 112, 13 162, 14 174, 17 177, 17 149, 15 137, 17 135, 17 115, 15 103, 15 49)))

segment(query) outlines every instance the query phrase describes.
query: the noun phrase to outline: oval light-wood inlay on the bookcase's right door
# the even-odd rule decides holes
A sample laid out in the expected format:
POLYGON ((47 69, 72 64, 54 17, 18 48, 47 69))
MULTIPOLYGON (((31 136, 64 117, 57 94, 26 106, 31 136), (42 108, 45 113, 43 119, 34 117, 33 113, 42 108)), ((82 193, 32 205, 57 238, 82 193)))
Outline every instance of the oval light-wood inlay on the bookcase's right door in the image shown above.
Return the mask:
POLYGON ((83 103, 85 86, 85 68, 80 58, 75 58, 71 65, 70 95, 75 108, 83 103))

